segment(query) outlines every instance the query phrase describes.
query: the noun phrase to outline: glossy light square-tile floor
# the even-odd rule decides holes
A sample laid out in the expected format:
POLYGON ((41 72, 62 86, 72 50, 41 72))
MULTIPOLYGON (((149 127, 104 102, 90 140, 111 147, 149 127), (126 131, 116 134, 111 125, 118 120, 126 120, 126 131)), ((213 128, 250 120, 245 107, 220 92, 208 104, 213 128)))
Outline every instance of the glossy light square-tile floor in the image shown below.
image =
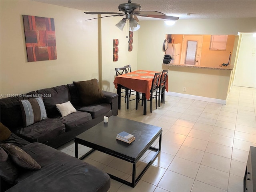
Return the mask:
MULTIPOLYGON (((256 89, 233 86, 226 105, 167 96, 143 115, 122 100, 118 116, 162 127, 162 150, 135 188, 111 179, 109 192, 242 192, 250 146, 256 146, 256 89)), ((154 146, 158 145, 158 141, 154 146)), ((89 148, 79 145, 79 156, 89 148)), ((74 156, 74 141, 59 148, 74 156)), ((136 173, 154 155, 148 151, 136 173)), ((93 152, 84 159, 131 182, 132 164, 93 152)))

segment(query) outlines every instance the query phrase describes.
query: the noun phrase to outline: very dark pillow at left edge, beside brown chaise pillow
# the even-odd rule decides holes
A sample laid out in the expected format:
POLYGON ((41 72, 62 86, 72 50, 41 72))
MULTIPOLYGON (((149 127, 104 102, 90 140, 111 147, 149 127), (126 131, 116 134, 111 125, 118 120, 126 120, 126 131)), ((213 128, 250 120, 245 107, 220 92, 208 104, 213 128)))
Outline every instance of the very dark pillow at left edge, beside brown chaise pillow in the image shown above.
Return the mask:
POLYGON ((0 160, 1 178, 10 184, 14 184, 18 177, 18 169, 2 147, 0 148, 0 160))

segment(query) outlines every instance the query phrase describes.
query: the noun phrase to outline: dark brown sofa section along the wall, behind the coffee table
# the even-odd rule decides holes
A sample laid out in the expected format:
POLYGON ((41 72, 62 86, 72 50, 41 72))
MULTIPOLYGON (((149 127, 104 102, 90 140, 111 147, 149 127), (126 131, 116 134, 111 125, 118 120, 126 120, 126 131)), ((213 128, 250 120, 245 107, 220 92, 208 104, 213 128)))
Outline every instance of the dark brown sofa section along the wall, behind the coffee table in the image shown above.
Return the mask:
POLYGON ((74 139, 78 134, 103 121, 103 116, 118 114, 115 93, 102 91, 101 102, 82 106, 74 84, 61 85, 0 99, 1 122, 13 133, 29 142, 40 142, 53 148, 74 139), (19 100, 42 96, 47 119, 24 127, 19 100), (70 101, 77 112, 62 117, 55 104, 70 101))

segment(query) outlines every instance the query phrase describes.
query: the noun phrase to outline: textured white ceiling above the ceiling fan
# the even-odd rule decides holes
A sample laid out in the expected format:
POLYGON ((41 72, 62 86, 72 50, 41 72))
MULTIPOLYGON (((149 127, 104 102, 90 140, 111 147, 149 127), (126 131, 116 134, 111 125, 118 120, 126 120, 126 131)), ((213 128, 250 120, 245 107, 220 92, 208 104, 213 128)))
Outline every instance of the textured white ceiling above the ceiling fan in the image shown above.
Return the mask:
MULTIPOLYGON (((128 0, 36 0, 90 12, 119 12, 128 0)), ((142 10, 155 10, 180 19, 256 18, 256 0, 133 0, 142 10), (187 14, 190 13, 190 16, 187 14)), ((95 15, 96 16, 96 15, 95 15)), ((152 18, 139 17, 139 20, 152 18)), ((155 19, 152 19, 155 20, 155 19)))

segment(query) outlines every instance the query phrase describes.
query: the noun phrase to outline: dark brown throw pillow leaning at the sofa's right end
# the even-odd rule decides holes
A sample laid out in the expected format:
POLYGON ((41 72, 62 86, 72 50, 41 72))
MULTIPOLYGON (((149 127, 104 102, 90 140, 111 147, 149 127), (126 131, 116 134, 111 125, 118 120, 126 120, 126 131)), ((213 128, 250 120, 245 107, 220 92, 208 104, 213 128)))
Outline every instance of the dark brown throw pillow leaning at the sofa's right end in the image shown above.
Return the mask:
POLYGON ((98 86, 97 79, 73 82, 78 92, 80 103, 83 106, 96 104, 104 99, 104 94, 98 86))

